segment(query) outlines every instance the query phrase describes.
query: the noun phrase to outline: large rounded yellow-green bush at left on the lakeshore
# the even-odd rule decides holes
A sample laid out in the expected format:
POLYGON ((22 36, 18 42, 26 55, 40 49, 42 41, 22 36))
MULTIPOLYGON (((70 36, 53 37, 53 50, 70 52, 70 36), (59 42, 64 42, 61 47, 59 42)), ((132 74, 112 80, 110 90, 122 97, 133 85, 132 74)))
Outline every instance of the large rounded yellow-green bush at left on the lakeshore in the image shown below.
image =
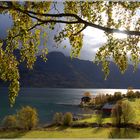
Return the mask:
POLYGON ((17 112, 18 127, 25 130, 31 130, 38 123, 38 114, 36 109, 26 106, 17 112))

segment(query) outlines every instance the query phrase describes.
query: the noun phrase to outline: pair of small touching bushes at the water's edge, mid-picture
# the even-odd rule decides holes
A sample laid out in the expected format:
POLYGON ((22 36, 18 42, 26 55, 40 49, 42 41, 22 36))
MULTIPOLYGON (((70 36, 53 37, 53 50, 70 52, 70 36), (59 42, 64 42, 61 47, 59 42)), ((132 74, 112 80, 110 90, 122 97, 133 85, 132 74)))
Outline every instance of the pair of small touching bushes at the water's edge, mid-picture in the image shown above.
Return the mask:
POLYGON ((54 115, 53 122, 55 125, 70 126, 73 122, 73 115, 71 112, 66 112, 65 114, 57 112, 54 115))

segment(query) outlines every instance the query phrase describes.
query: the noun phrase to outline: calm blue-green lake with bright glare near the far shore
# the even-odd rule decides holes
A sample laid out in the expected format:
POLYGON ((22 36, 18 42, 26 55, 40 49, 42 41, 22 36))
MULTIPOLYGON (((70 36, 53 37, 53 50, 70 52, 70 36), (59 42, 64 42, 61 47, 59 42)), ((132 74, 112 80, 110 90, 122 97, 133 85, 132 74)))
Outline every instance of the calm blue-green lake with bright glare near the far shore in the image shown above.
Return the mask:
POLYGON ((9 107, 8 89, 0 88, 0 119, 14 114, 22 106, 35 107, 39 113, 40 123, 49 123, 55 112, 72 112, 73 114, 92 113, 78 106, 83 93, 92 95, 100 93, 113 94, 116 91, 126 93, 126 89, 63 89, 63 88, 21 88, 13 108, 9 107))

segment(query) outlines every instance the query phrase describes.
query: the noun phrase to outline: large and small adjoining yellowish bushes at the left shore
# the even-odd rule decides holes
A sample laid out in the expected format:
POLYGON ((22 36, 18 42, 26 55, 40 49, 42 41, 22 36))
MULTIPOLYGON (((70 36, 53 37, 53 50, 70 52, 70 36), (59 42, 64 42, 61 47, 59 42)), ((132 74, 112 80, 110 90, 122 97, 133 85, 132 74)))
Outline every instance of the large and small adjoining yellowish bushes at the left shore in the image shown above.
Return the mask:
POLYGON ((6 129, 31 130, 38 123, 38 113, 30 106, 22 107, 14 115, 8 115, 3 119, 3 127, 6 129))

